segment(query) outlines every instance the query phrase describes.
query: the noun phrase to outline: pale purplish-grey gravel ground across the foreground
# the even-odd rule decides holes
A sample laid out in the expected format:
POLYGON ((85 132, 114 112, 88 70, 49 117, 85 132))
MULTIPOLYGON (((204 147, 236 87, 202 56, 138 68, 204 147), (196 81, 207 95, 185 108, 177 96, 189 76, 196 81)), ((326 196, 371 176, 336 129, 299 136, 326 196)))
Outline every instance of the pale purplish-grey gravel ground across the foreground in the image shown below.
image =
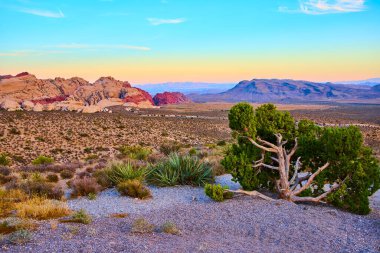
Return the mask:
MULTIPOLYGON (((230 182, 228 176, 218 182, 230 182)), ((43 222, 32 242, 3 246, 4 252, 380 252, 380 213, 353 215, 324 205, 296 205, 242 196, 222 203, 207 199, 200 188, 152 188, 154 198, 136 201, 114 191, 97 200, 72 200, 96 217, 90 225, 43 222), (194 199, 195 197, 195 199, 194 199), (127 212, 126 218, 108 214, 127 212), (157 229, 133 234, 144 217, 157 229), (159 230, 172 221, 182 235, 159 230)))

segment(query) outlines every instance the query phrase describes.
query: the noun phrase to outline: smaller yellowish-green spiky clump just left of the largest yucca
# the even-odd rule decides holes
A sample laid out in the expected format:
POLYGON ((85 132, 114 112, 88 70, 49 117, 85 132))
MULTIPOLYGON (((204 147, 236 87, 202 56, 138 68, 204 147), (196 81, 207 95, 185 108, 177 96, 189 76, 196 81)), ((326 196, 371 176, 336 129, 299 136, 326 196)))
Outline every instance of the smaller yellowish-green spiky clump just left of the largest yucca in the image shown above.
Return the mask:
POLYGON ((108 178, 115 186, 125 180, 137 179, 142 181, 145 174, 145 169, 135 168, 130 162, 113 162, 107 168, 108 178))

